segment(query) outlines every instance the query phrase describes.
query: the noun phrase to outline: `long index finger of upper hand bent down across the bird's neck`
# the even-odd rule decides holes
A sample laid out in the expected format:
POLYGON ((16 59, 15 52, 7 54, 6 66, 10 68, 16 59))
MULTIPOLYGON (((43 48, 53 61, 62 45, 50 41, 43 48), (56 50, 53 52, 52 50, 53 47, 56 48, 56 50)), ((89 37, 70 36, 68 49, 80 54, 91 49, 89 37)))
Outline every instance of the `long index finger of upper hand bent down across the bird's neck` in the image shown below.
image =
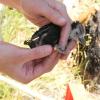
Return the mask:
POLYGON ((55 9, 57 9, 59 11, 59 13, 67 21, 67 24, 62 29, 61 38, 60 38, 60 42, 59 42, 59 44, 62 46, 62 48, 65 48, 68 37, 69 37, 70 30, 71 30, 71 19, 69 18, 68 14, 67 14, 66 6, 64 4, 62 4, 61 2, 56 3, 55 9))

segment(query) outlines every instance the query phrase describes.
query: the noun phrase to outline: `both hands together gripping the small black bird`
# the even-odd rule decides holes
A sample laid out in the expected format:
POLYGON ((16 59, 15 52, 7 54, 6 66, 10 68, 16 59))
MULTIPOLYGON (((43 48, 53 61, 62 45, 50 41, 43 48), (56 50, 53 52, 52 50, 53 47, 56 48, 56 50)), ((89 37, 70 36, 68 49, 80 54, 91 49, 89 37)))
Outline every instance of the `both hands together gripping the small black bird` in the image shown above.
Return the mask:
MULTIPOLYGON (((71 22, 63 4, 55 0, 19 0, 15 8, 38 26, 50 22, 61 26, 62 32, 59 44, 62 48, 65 48, 71 22)), ((69 43, 66 50, 68 54, 74 46, 74 41, 69 43)), ((23 83, 28 83, 51 71, 60 58, 65 59, 67 56, 57 53, 49 45, 26 49, 0 42, 1 72, 23 83)))

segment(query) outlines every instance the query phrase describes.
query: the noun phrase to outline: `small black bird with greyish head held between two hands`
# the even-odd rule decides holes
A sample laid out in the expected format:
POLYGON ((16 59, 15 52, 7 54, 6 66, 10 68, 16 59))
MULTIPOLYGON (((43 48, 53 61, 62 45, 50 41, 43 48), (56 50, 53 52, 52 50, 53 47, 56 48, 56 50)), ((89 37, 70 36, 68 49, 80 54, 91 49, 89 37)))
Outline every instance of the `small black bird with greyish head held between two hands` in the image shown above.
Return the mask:
MULTIPOLYGON (((73 22, 71 27, 72 29, 69 34, 68 42, 73 39, 75 41, 79 40, 81 44, 84 44, 85 29, 83 25, 77 21, 73 22)), ((58 50, 58 52, 64 53, 65 50, 63 48, 60 48, 60 45, 58 44, 60 39, 60 33, 61 33, 61 27, 53 23, 50 23, 41 27, 38 31, 36 31, 32 35, 31 39, 25 41, 24 44, 29 45, 30 48, 49 44, 55 47, 58 50)))

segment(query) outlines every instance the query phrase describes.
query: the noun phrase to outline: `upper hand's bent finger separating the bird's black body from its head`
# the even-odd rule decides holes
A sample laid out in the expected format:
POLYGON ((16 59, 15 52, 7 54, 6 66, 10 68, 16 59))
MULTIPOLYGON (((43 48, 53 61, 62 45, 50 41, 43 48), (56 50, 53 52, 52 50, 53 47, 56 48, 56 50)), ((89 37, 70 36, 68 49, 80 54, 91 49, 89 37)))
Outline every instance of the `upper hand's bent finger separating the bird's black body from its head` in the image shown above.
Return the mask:
MULTIPOLYGON (((54 0, 51 0, 49 2, 49 5, 54 8, 56 10, 56 12, 60 15, 63 16, 63 18, 66 19, 66 24, 62 27, 62 31, 61 31, 61 36, 60 36, 60 40, 59 40, 59 45, 62 48, 65 48, 66 44, 67 44, 67 40, 69 37, 69 33, 70 33, 70 29, 71 29, 71 20, 67 14, 67 10, 66 7, 61 4, 60 2, 54 2, 54 0), (52 3, 50 3, 52 1, 52 3)), ((54 14, 53 14, 54 15, 54 14)), ((58 22, 58 20, 56 21, 58 22)))

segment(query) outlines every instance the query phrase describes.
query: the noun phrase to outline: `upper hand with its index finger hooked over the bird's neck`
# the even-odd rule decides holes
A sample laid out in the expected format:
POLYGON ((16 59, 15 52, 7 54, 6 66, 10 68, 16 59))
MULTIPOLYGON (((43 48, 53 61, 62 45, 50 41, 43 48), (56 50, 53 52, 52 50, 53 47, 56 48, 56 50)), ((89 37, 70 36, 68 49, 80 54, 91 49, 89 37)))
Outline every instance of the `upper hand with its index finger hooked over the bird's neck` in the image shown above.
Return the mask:
MULTIPOLYGON (((71 20, 67 14, 64 4, 56 0, 21 0, 22 13, 33 23, 43 26, 50 22, 62 27, 60 46, 65 48, 71 29, 71 20)), ((75 43, 71 42, 68 46, 68 54, 75 43)), ((62 55, 61 58, 66 58, 62 55)))

